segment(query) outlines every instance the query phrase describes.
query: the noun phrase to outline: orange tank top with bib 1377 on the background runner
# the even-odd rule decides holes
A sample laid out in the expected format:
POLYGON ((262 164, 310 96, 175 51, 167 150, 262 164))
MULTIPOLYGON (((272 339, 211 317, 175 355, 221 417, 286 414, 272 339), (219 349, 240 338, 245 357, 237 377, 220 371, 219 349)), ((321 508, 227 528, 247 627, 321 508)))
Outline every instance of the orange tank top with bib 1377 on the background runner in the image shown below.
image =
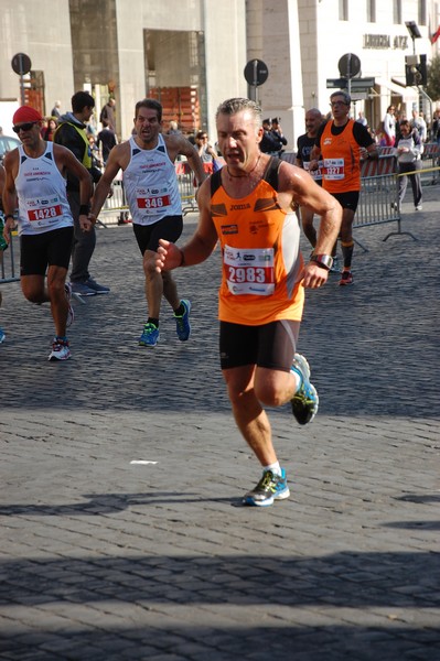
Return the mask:
POLYGON ((329 193, 361 191, 361 148, 353 137, 354 120, 348 119, 339 136, 333 136, 332 124, 328 121, 321 136, 322 185, 329 193))

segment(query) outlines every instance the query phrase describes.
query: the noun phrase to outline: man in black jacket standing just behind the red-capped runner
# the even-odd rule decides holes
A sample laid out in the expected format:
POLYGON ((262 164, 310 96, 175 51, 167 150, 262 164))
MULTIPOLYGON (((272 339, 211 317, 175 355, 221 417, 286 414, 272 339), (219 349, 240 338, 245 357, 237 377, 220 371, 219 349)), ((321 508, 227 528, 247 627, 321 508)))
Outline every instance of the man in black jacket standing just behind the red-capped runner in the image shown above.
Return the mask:
MULTIPOLYGON (((86 124, 93 115, 94 107, 95 100, 87 91, 74 94, 72 112, 61 117, 54 142, 69 149, 89 171, 93 182, 96 184, 101 172, 92 164, 90 145, 86 133, 86 124)), ((67 199, 75 224, 72 248, 72 291, 82 296, 107 294, 110 289, 96 282, 88 272, 88 264, 96 246, 96 232, 95 227, 88 232, 82 231, 79 227, 79 182, 69 174, 67 174, 67 199)))

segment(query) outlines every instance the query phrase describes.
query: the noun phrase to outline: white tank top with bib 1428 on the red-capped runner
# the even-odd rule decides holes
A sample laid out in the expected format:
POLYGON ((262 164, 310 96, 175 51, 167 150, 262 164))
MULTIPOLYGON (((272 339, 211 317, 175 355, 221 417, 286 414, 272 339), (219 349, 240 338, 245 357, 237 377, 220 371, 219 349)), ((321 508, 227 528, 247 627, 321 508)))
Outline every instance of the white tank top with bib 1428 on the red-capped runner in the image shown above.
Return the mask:
POLYGON ((53 143, 42 156, 32 159, 19 147, 15 189, 19 198, 19 235, 39 235, 71 227, 73 217, 66 196, 66 180, 56 166, 53 143))

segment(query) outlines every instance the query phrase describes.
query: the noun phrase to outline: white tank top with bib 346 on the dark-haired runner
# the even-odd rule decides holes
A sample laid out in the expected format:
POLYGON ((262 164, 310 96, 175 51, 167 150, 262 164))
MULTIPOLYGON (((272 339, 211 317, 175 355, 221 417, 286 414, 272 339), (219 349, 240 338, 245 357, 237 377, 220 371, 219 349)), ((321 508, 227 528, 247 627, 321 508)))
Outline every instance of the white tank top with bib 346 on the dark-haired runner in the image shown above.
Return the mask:
POLYGON ((140 149, 130 138, 130 162, 122 178, 135 224, 152 225, 167 216, 182 215, 174 163, 160 133, 154 149, 140 149))

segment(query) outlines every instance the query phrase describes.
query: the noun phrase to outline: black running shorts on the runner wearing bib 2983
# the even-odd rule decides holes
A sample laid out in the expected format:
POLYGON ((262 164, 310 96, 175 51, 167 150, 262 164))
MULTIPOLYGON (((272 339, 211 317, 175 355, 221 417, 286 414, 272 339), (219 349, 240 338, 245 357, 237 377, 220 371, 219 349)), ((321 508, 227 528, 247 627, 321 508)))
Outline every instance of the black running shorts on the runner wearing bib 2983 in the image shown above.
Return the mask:
POLYGON ((243 326, 221 322, 222 369, 257 365, 290 371, 297 350, 300 322, 272 322, 262 326, 243 326))

